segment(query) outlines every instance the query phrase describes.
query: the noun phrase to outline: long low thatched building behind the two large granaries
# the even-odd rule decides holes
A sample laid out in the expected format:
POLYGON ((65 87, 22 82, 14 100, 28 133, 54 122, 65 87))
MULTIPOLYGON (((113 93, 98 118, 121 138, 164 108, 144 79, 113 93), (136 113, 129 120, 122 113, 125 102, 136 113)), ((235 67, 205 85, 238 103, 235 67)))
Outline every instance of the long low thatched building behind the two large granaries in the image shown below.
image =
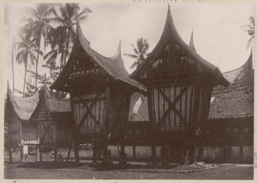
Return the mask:
MULTIPOLYGON (((194 48, 193 34, 189 47, 194 48)), ((217 85, 212 90, 210 111, 201 126, 201 150, 196 147, 195 159, 204 162, 253 163, 253 101, 254 70, 252 53, 240 68, 223 73, 229 87, 217 85), (202 153, 199 155, 199 152, 202 153), (199 158, 198 158, 199 155, 199 158)), ((148 96, 133 93, 128 121, 127 156, 132 159, 151 159, 151 144, 146 141, 149 127, 148 96)), ((156 146, 156 157, 161 157, 156 146)), ((117 150, 112 147, 117 157, 117 150)), ((169 150, 168 160, 174 153, 169 150)))

